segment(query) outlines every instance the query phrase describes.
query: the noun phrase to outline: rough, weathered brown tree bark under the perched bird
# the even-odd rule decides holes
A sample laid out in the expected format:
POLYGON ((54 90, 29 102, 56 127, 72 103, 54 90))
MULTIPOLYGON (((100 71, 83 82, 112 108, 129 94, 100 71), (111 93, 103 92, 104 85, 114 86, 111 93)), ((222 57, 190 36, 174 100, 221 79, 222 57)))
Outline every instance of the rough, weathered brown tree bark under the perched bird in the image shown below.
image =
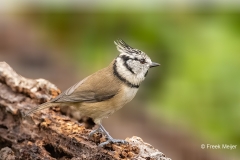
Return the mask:
POLYGON ((7 63, 0 62, 0 160, 15 159, 147 159, 170 160, 141 138, 129 144, 108 144, 101 134, 88 138, 91 129, 59 112, 59 108, 36 112, 26 120, 22 113, 56 97, 60 90, 44 79, 27 79, 7 63))

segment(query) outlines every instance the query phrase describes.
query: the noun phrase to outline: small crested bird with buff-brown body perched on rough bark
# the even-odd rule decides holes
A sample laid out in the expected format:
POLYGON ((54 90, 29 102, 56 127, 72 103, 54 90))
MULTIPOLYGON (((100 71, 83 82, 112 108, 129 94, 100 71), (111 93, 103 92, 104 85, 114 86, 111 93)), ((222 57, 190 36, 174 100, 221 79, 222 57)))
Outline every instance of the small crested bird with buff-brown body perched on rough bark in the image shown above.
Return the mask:
POLYGON ((141 82, 148 70, 160 64, 152 62, 143 51, 129 46, 121 39, 114 41, 119 55, 106 67, 76 83, 54 99, 30 109, 24 116, 54 106, 74 106, 80 114, 91 118, 97 129, 90 132, 103 133, 108 143, 127 143, 125 140, 114 139, 102 125, 102 119, 130 102, 136 95, 141 82))

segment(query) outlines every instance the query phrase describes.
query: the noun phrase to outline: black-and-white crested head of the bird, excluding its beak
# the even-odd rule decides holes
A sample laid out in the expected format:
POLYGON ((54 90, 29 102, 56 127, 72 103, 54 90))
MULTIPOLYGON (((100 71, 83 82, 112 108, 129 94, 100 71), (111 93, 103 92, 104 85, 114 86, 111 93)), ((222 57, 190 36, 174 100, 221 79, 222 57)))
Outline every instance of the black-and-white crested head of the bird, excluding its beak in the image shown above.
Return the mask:
POLYGON ((120 79, 130 83, 131 87, 138 88, 148 73, 152 64, 151 59, 141 50, 130 47, 122 40, 115 41, 115 44, 120 52, 114 64, 115 72, 120 79))

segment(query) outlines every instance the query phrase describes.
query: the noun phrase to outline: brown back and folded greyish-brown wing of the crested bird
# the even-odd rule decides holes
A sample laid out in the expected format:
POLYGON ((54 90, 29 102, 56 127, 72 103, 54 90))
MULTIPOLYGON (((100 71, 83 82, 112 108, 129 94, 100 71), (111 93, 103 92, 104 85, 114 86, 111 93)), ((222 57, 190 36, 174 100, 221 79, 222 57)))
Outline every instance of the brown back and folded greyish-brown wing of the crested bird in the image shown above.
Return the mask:
POLYGON ((100 70, 73 85, 51 102, 100 102, 114 97, 120 85, 114 84, 114 76, 100 70))

